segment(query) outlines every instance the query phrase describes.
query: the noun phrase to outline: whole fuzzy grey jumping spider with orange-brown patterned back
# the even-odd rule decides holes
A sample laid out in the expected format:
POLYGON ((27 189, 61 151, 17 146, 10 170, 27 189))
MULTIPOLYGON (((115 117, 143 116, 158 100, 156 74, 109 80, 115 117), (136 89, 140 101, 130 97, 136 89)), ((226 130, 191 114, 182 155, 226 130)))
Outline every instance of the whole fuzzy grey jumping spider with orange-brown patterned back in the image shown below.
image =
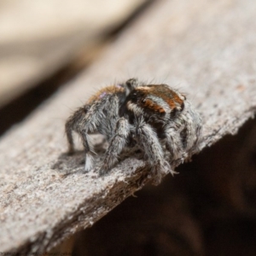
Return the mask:
POLYGON ((122 149, 134 143, 144 151, 154 176, 154 183, 168 172, 163 146, 171 154, 172 164, 183 162, 198 151, 201 118, 186 97, 166 84, 143 84, 129 79, 99 90, 67 119, 68 151, 73 153, 72 132, 81 137, 85 151, 85 171, 93 166, 89 134, 105 136, 109 146, 101 174, 118 162, 122 149))

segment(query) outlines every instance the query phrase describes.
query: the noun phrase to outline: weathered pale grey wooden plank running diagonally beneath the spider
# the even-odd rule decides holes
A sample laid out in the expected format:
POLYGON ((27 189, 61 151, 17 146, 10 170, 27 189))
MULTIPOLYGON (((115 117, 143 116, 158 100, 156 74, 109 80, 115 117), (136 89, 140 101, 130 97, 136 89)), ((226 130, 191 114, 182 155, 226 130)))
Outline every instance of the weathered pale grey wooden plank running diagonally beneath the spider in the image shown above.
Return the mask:
MULTIPOLYGON (((42 253, 94 224, 148 181, 136 154, 104 177, 96 170, 84 173, 82 151, 64 154, 70 109, 102 85, 137 77, 180 88, 201 113, 201 149, 253 117, 255 10, 253 0, 154 3, 101 60, 9 131, 0 144, 1 251, 42 253)), ((98 153, 96 163, 102 160, 98 153)))

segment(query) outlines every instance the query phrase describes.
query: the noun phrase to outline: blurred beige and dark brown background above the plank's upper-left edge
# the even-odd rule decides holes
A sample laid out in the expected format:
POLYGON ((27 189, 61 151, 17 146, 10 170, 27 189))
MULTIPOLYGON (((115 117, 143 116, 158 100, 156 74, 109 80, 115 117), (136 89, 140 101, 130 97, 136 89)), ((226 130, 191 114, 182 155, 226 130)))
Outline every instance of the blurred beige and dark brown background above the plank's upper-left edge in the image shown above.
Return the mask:
POLYGON ((95 60, 150 0, 0 0, 0 135, 95 60))

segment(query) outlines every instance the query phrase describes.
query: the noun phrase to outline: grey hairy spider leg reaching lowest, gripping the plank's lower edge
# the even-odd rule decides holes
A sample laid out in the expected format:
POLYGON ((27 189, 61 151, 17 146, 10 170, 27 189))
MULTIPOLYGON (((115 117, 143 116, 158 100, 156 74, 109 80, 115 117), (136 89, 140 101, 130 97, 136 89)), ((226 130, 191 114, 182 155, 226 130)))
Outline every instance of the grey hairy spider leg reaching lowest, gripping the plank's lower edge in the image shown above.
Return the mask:
POLYGON ((137 142, 143 148, 148 157, 148 164, 154 172, 153 183, 159 184, 162 176, 172 171, 171 166, 164 158, 164 152, 159 139, 152 127, 144 122, 143 119, 136 120, 136 137, 137 142))

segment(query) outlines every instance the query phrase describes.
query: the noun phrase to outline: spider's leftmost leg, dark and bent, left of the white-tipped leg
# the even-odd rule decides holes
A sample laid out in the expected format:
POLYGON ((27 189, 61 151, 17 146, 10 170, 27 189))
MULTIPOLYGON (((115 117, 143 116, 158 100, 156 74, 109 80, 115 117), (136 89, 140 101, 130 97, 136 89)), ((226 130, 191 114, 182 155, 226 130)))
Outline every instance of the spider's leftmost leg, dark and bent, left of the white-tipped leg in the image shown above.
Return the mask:
POLYGON ((67 144, 68 144, 68 153, 73 154, 74 151, 74 143, 73 143, 73 131, 78 131, 77 125, 84 118, 86 113, 86 108, 79 108, 72 116, 67 119, 65 125, 65 132, 67 136, 67 144))

